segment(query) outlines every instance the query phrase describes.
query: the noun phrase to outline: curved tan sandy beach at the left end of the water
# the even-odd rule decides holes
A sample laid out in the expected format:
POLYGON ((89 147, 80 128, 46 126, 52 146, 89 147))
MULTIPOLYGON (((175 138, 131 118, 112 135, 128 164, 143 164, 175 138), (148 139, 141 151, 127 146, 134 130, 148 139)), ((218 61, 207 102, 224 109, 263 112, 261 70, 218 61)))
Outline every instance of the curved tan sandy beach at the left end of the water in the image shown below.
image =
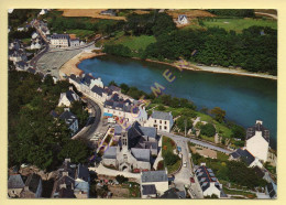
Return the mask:
POLYGON ((84 60, 97 57, 106 55, 105 53, 94 53, 94 52, 85 52, 77 54, 75 57, 70 58, 68 62, 66 62, 59 69, 59 76, 63 77, 64 75, 70 76, 72 74, 75 75, 82 75, 85 72, 78 68, 78 64, 82 62, 84 60))

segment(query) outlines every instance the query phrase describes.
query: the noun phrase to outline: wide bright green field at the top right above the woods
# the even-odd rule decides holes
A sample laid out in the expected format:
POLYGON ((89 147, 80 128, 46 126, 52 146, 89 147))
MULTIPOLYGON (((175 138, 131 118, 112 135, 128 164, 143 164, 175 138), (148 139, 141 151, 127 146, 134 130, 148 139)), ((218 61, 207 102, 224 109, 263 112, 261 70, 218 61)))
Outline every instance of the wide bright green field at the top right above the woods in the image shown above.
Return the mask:
POLYGON ((257 26, 270 26, 272 29, 277 29, 277 21, 275 20, 263 20, 263 19, 211 19, 205 20, 204 24, 207 28, 219 26, 226 29, 227 31, 233 30, 241 33, 243 29, 248 29, 252 25, 257 26), (213 20, 213 21, 211 21, 213 20))

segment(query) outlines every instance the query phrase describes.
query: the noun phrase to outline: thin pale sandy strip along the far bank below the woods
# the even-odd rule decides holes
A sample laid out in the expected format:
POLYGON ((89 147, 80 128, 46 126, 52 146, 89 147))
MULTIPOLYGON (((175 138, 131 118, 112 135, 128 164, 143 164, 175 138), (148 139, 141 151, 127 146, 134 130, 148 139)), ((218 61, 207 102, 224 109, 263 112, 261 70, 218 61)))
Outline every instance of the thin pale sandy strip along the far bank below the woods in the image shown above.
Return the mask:
MULTIPOLYGON (((132 57, 132 58, 140 60, 138 57, 132 57)), ((230 74, 230 75, 242 75, 242 76, 261 77, 261 78, 277 80, 277 76, 263 74, 263 73, 251 73, 251 72, 248 72, 248 71, 241 69, 241 68, 227 68, 227 67, 219 67, 219 66, 212 67, 212 66, 207 66, 207 65, 194 65, 194 64, 190 64, 189 62, 186 62, 188 65, 179 66, 179 64, 182 65, 184 63, 180 63, 180 62, 166 63, 166 62, 160 62, 160 61, 154 61, 154 60, 145 60, 145 61, 169 65, 169 66, 176 67, 178 69, 188 69, 188 71, 194 71, 194 72, 211 72, 211 73, 221 73, 221 74, 230 74)))

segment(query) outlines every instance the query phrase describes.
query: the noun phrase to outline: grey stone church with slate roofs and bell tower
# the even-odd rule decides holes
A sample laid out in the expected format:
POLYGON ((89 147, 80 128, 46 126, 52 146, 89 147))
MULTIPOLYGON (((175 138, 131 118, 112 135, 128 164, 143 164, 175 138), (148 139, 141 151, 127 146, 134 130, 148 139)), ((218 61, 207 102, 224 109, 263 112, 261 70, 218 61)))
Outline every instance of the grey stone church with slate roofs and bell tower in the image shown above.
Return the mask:
POLYGON ((102 155, 102 164, 119 171, 135 172, 151 170, 158 154, 156 128, 142 127, 135 121, 121 133, 117 147, 109 147, 102 155))

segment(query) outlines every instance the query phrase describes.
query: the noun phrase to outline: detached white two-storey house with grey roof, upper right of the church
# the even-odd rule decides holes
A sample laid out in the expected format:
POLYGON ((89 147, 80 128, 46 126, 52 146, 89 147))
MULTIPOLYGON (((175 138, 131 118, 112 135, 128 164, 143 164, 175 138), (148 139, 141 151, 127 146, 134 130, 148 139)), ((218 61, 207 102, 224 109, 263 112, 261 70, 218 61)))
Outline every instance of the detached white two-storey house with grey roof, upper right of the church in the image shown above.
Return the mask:
POLYGON ((144 126, 155 127, 157 130, 169 132, 174 125, 172 112, 154 111, 144 126))

